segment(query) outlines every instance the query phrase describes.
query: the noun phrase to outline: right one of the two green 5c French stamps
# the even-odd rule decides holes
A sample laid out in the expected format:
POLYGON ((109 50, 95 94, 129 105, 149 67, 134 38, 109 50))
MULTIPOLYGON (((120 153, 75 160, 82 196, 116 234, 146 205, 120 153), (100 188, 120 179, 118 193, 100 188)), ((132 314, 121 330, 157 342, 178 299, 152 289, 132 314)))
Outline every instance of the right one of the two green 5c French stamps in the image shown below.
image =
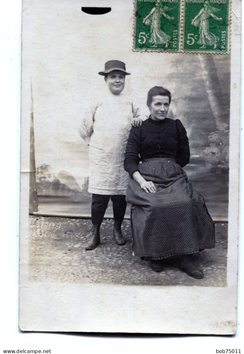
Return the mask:
POLYGON ((229 0, 184 0, 184 52, 227 53, 229 0))

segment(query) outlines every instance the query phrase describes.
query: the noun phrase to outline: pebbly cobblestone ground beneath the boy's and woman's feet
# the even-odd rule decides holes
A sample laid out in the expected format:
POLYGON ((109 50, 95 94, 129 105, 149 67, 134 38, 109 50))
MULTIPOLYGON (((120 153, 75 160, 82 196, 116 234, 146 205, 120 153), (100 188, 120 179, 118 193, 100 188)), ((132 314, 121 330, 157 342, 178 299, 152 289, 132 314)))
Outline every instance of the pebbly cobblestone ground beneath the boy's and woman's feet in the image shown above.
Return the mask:
POLYGON ((101 245, 86 251, 90 219, 30 216, 29 280, 122 285, 227 286, 227 224, 216 223, 216 247, 195 256, 204 278, 193 279, 168 263, 160 273, 149 261, 132 256, 130 221, 122 230, 127 243, 118 246, 112 237, 112 219, 101 225, 101 245))

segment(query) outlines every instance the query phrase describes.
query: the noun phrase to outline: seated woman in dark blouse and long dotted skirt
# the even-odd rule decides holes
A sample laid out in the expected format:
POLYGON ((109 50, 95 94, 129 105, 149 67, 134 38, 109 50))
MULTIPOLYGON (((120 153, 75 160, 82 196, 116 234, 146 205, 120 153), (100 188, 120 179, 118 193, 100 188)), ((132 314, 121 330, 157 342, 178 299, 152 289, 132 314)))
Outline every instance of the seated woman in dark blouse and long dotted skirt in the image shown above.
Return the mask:
POLYGON ((150 117, 130 130, 124 169, 130 176, 132 248, 134 255, 151 259, 157 272, 165 259, 180 256, 179 269, 201 279, 203 271, 192 255, 215 246, 214 222, 182 169, 190 149, 180 120, 167 118, 170 101, 167 89, 153 87, 147 95, 150 117))

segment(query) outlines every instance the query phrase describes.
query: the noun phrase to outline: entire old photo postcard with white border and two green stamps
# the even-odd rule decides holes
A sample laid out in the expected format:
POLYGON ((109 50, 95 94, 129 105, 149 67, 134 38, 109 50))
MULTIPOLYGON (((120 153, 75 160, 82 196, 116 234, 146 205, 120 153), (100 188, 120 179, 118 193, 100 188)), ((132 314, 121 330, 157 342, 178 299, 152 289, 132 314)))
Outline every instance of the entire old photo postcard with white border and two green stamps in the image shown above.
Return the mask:
POLYGON ((236 333, 240 5, 23 0, 22 331, 236 333))

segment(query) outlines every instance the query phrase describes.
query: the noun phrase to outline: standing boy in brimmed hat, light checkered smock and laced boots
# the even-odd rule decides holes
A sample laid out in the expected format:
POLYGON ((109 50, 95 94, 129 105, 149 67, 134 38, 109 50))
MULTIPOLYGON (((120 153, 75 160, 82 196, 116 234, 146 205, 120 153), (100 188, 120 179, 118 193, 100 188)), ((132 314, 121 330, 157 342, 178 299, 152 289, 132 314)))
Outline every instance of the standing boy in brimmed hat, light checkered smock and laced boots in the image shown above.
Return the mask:
POLYGON ((89 145, 89 187, 92 193, 92 229, 86 250, 100 244, 100 225, 111 198, 114 213, 113 235, 118 245, 126 240, 121 224, 126 212, 128 175, 124 171, 124 153, 131 125, 138 126, 138 108, 122 91, 126 66, 118 60, 105 63, 104 76, 109 91, 89 105, 79 129, 82 139, 89 145))

